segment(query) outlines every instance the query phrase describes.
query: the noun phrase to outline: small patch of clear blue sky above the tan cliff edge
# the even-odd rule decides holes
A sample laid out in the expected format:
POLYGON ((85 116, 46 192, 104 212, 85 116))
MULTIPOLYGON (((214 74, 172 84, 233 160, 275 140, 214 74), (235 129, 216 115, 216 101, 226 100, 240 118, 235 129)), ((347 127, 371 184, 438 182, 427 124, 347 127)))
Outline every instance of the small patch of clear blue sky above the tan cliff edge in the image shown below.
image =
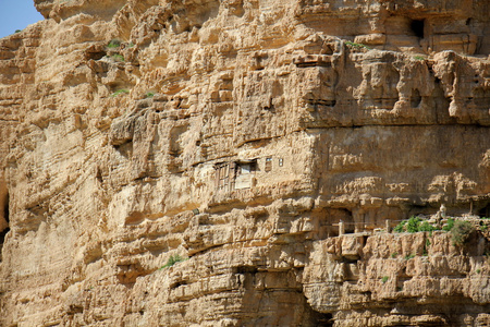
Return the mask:
POLYGON ((0 38, 41 20, 34 0, 0 0, 0 38))

